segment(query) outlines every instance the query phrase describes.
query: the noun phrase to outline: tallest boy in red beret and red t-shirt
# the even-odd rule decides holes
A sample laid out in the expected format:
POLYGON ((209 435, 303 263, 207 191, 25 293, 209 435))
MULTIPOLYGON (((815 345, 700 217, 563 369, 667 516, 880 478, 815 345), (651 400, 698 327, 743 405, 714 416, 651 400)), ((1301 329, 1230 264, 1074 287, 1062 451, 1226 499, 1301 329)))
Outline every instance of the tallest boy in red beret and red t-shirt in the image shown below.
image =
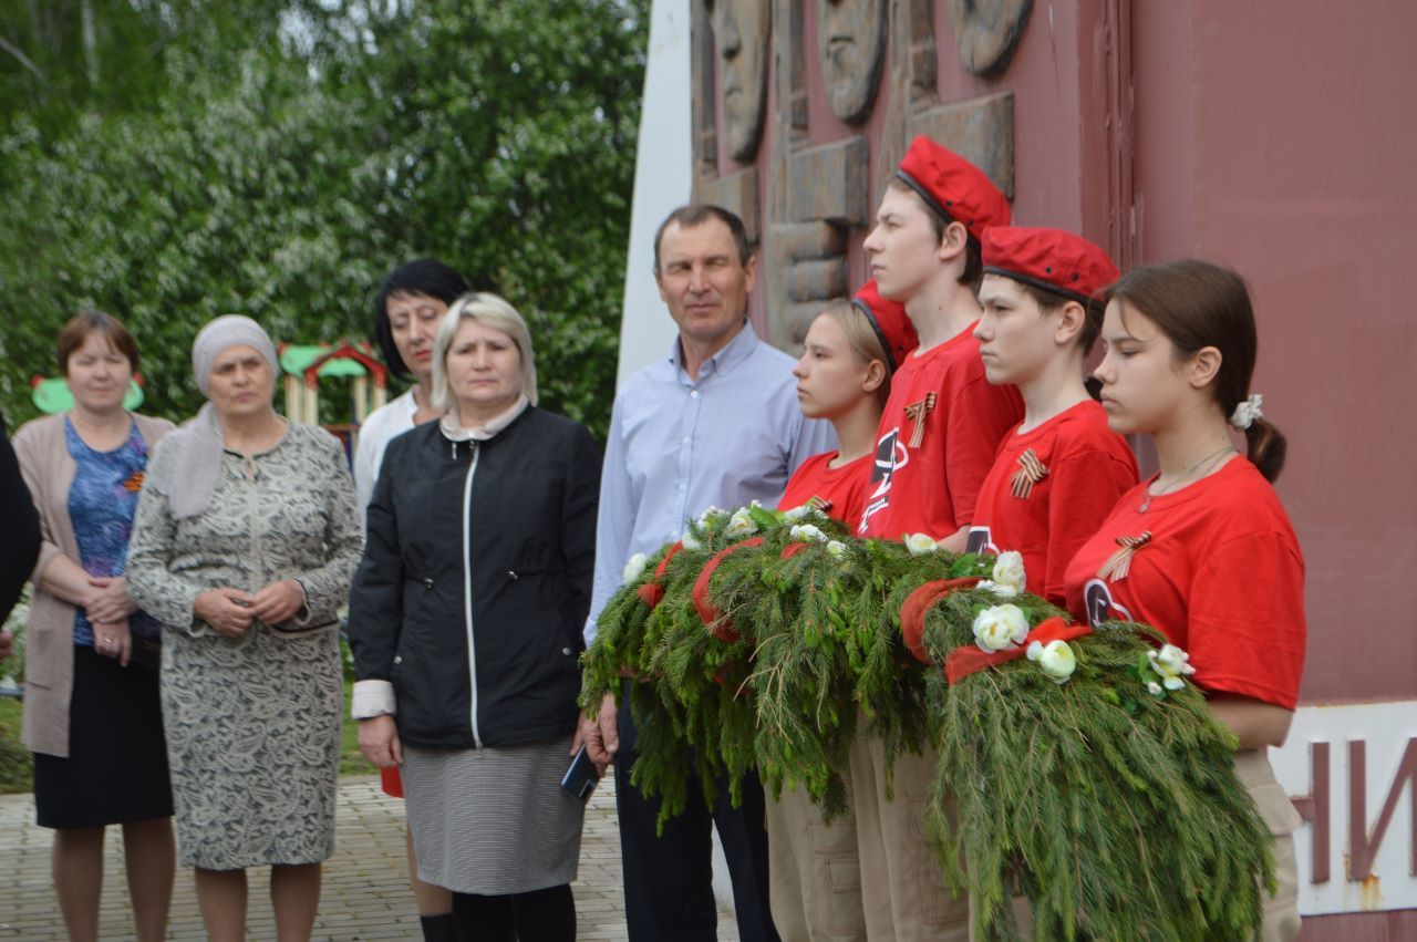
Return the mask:
MULTIPOLYGON (((1012 387, 989 385, 973 339, 981 307, 979 238, 1009 224, 1009 203, 964 157, 917 137, 866 238, 883 297, 901 302, 920 348, 891 377, 859 531, 901 540, 924 533, 965 548, 975 497, 999 441, 1023 418, 1012 387)), ((852 762, 862 904, 871 939, 969 938, 969 905, 954 898, 925 840, 922 809, 935 755, 898 755, 887 795, 881 742, 852 762)))

